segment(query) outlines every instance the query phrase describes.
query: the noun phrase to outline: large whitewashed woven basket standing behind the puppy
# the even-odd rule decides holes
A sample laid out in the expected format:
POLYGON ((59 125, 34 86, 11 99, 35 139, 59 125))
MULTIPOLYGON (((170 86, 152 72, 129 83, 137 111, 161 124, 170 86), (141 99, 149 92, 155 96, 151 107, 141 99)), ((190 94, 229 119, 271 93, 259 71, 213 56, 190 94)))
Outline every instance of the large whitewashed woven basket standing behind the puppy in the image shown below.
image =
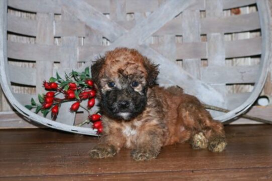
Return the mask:
MULTIPOLYGON (((74 126, 85 114, 61 107, 52 121, 26 109, 43 93, 42 81, 91 66, 91 60, 116 47, 138 49, 160 64, 158 82, 179 85, 203 103, 229 109, 212 112, 225 122, 245 112, 260 94, 270 58, 271 16, 268 1, 0 1, 1 85, 11 105, 27 119, 81 134, 96 130, 74 126), (233 8, 255 6, 257 11, 224 16, 233 8), (8 8, 34 18, 8 13, 8 8), (227 41, 227 35, 259 31, 261 36, 227 41), (7 38, 27 37, 28 43, 7 38), (254 65, 230 65, 228 60, 257 57, 254 65), (26 68, 13 62, 29 62, 26 68), (233 85, 247 84, 249 93, 229 93, 233 85), (33 94, 14 91, 27 86, 33 94)), ((94 108, 95 111, 97 107, 94 108)))

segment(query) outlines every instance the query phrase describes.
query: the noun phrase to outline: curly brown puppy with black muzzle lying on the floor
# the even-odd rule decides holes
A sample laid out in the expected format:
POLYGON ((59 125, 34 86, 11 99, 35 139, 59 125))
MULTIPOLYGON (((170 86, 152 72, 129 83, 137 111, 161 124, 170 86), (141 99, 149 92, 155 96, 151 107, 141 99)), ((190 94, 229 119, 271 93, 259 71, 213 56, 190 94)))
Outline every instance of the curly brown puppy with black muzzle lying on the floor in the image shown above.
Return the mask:
POLYGON ((156 85, 158 65, 137 50, 116 48, 91 67, 103 115, 103 133, 92 158, 130 148, 134 160, 156 158, 162 146, 189 141, 193 148, 223 151, 225 133, 199 100, 181 88, 156 85))

